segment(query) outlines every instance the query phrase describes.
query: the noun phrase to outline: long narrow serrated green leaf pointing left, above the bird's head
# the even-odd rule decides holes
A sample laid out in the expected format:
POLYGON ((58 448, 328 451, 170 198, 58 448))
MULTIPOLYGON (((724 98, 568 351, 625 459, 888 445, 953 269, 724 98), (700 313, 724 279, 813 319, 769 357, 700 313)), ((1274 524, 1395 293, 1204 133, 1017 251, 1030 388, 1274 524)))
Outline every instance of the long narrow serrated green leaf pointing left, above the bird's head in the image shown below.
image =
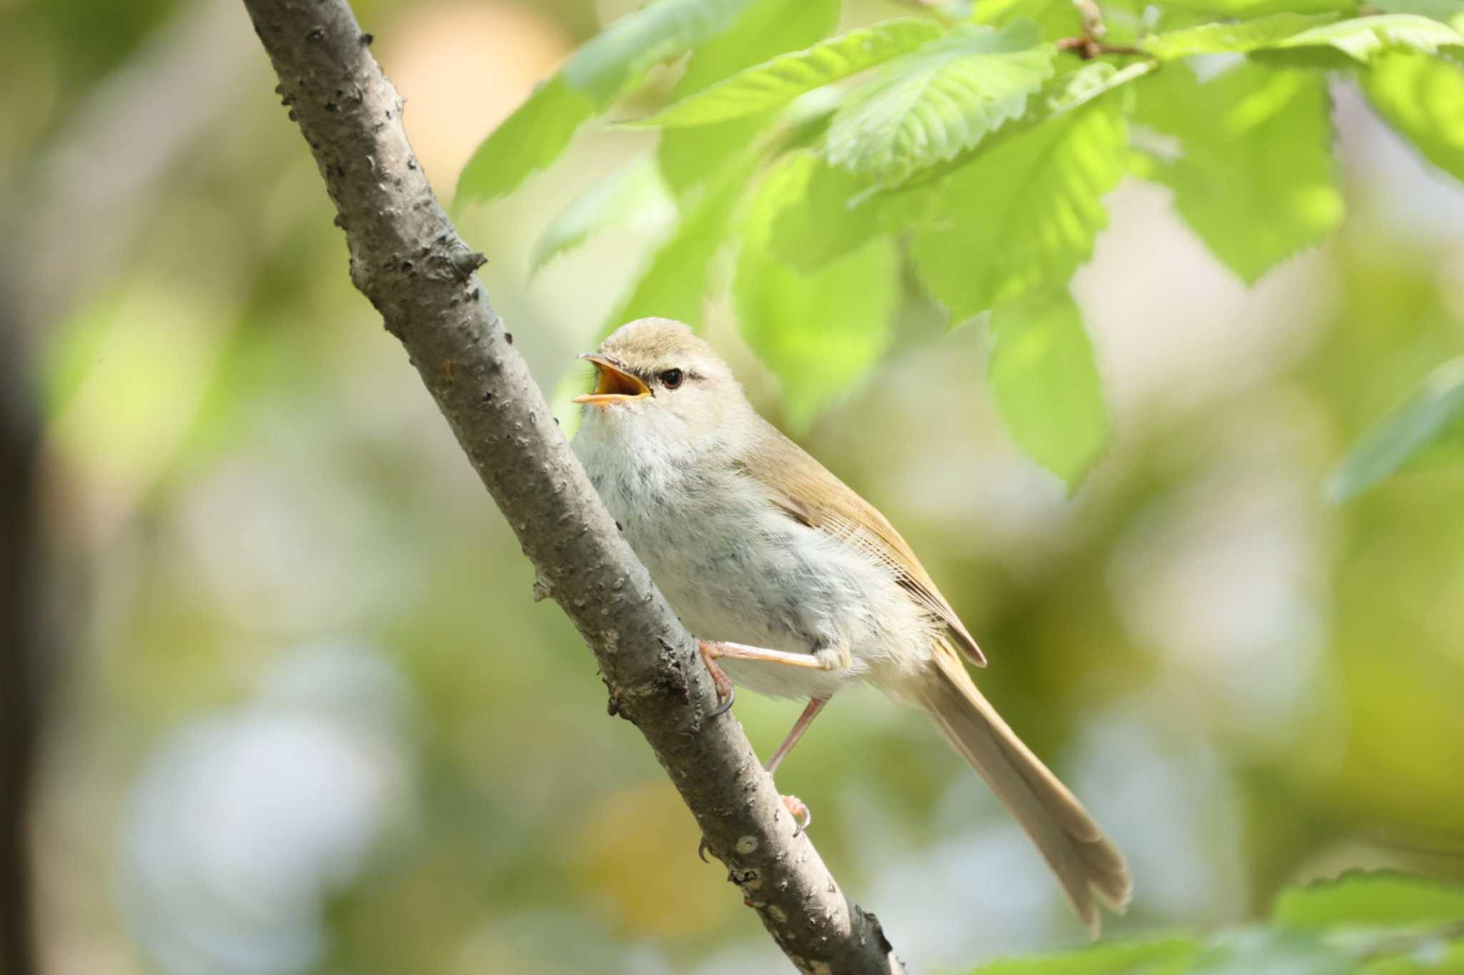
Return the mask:
POLYGON ((704 126, 757 115, 793 98, 881 64, 943 34, 931 20, 899 18, 849 31, 804 51, 793 51, 738 72, 635 124, 704 126))

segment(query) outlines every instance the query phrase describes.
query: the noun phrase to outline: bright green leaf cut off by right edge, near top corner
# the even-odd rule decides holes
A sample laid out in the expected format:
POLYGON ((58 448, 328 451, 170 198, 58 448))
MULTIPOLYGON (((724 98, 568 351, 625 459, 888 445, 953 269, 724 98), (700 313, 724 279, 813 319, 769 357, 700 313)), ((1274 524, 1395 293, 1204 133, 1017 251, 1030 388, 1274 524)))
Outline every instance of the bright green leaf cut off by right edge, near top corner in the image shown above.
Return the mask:
POLYGON ((1386 51, 1359 80, 1398 134, 1429 162, 1464 180, 1464 67, 1416 51, 1386 51))

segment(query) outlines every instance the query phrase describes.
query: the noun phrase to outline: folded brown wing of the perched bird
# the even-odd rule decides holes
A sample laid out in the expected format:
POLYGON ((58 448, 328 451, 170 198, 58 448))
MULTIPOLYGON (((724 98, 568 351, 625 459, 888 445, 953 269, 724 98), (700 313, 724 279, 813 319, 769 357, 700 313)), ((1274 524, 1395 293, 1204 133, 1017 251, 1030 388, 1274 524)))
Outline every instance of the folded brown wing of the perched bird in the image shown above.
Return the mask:
POLYGON ((899 585, 944 624, 956 646, 978 667, 987 665, 981 648, 895 526, 802 447, 767 424, 758 446, 745 455, 739 466, 767 488, 773 504, 789 517, 827 532, 887 566, 899 585), (804 460, 789 463, 798 453, 804 455, 804 460))

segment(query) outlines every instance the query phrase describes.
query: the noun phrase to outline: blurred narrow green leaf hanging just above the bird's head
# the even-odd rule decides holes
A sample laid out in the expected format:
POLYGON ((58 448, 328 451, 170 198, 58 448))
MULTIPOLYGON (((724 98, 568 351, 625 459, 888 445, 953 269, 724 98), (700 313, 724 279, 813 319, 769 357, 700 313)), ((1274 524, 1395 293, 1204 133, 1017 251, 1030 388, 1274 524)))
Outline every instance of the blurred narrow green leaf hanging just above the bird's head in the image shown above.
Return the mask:
POLYGON ((610 313, 605 333, 647 316, 698 327, 712 284, 712 265, 728 241, 728 224, 752 171, 755 155, 742 153, 723 165, 681 222, 656 250, 630 295, 610 313))

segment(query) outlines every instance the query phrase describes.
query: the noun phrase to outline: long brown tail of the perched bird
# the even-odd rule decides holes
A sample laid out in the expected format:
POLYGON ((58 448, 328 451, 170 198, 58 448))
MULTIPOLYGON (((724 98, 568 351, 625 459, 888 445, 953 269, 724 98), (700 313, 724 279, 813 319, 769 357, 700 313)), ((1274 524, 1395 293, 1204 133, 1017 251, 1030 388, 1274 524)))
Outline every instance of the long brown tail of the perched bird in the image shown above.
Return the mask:
POLYGON ((1078 917, 1098 937, 1098 902, 1118 914, 1129 905, 1133 884, 1123 854, 1001 721, 956 655, 940 650, 916 691, 921 705, 1032 838, 1078 917))

